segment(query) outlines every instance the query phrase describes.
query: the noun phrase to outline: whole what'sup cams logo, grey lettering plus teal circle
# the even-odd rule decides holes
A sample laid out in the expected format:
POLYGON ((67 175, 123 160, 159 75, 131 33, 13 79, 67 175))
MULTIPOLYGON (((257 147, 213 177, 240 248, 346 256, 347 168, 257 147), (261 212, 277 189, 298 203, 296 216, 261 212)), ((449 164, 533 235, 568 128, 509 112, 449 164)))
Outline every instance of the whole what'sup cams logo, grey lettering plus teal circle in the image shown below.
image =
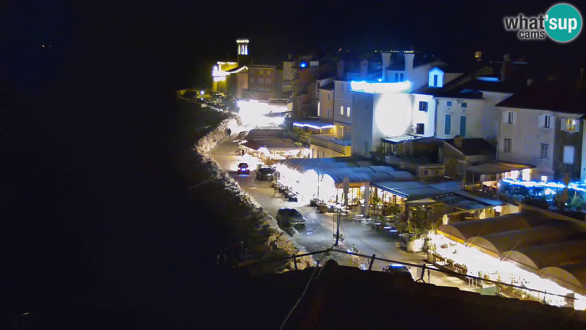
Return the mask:
POLYGON ((556 42, 574 40, 582 29, 582 16, 573 5, 551 6, 546 14, 503 18, 505 29, 515 31, 519 40, 543 40, 549 37, 556 42))

